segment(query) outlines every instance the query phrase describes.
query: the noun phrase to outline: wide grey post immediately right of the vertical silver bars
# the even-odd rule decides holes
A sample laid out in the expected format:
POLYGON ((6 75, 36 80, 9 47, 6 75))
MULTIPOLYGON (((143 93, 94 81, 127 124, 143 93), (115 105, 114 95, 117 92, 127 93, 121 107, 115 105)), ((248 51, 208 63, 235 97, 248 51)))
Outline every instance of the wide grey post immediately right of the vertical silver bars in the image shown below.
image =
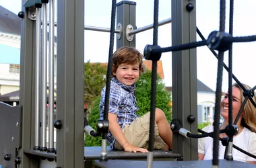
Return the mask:
POLYGON ((57 1, 57 167, 84 167, 84 0, 57 1))

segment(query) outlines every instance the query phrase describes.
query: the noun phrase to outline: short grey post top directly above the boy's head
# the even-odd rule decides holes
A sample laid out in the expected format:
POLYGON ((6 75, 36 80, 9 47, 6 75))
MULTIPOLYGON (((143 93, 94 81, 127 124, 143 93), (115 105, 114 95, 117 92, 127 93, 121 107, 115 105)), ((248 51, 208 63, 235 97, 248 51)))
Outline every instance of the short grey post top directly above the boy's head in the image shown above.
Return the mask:
POLYGON ((135 34, 127 35, 129 30, 136 29, 136 3, 120 1, 117 3, 117 29, 121 28, 121 36, 117 34, 117 48, 122 46, 135 47, 135 34))

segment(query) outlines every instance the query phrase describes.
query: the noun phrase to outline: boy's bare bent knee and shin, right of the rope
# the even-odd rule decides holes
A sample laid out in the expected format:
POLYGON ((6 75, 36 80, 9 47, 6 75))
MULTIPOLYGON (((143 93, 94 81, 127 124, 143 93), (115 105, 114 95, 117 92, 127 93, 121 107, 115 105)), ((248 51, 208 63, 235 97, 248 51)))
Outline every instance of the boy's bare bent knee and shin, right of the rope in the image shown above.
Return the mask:
POLYGON ((170 124, 167 122, 164 112, 158 108, 156 108, 156 124, 160 137, 172 149, 172 130, 170 129, 170 124))

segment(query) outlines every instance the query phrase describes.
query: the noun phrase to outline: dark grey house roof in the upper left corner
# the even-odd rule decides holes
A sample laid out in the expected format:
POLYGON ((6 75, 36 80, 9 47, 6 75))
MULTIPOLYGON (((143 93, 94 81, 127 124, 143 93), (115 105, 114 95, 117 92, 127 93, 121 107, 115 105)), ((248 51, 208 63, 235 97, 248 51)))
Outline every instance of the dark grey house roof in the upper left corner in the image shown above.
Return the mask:
POLYGON ((0 32, 21 34, 22 19, 0 5, 0 32))

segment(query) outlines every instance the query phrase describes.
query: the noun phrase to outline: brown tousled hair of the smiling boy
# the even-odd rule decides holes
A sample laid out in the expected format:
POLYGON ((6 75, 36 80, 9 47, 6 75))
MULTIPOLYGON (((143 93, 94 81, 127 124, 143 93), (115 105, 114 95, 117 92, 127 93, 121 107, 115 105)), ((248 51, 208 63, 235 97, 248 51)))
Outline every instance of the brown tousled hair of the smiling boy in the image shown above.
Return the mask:
POLYGON ((128 65, 135 65, 139 62, 139 75, 145 71, 143 65, 143 55, 139 50, 124 46, 117 49, 113 54, 113 65, 112 65, 112 73, 116 73, 119 65, 121 64, 128 64, 128 65))

